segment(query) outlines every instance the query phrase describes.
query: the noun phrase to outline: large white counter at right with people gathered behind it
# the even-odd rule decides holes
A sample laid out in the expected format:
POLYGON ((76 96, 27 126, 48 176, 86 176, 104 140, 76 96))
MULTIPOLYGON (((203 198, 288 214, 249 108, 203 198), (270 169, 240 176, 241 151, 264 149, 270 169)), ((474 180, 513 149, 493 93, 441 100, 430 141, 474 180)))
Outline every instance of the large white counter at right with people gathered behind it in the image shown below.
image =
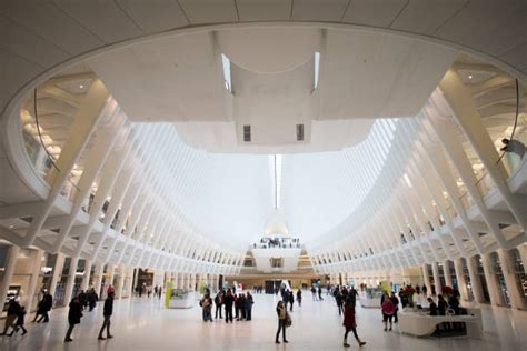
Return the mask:
POLYGON ((399 330, 415 337, 431 335, 444 322, 460 322, 467 325, 467 337, 481 339, 483 323, 478 315, 429 315, 421 312, 399 312, 399 330))

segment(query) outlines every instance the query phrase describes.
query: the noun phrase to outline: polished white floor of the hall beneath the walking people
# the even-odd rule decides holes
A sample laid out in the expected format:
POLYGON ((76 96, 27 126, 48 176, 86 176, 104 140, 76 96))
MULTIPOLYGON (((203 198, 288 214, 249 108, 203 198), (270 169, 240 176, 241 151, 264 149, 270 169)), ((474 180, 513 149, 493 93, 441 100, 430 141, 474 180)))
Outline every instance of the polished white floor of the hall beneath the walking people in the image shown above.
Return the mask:
MULTIPOLYGON (((305 294, 304 304, 295 304, 292 327, 287 330, 289 344, 275 344, 277 318, 274 295, 255 295, 253 320, 226 324, 201 321, 198 307, 188 310, 167 310, 158 300, 126 299, 116 301, 112 318, 115 338, 98 341, 102 322, 102 305, 84 312, 81 324, 73 331, 74 341, 64 344, 68 309, 51 313, 47 324, 27 323, 29 333, 13 338, 0 337, 0 350, 341 350, 341 319, 331 298, 311 301, 305 294)), ((367 341, 364 350, 527 350, 527 312, 500 308, 484 308, 484 339, 414 338, 382 331, 378 309, 357 308, 358 332, 367 341)), ((31 320, 28 317, 28 320, 31 320)), ((3 327, 3 321, 2 327, 3 327)), ((357 350, 352 335, 350 350, 357 350)))

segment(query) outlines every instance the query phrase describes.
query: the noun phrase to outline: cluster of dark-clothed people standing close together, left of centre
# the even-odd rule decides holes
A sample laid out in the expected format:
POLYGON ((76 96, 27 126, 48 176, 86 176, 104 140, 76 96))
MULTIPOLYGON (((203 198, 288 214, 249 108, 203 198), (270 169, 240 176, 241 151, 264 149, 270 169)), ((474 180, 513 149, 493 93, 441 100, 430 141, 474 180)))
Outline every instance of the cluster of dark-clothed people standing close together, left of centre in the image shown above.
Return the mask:
MULTIPOLYGON (((255 300, 249 291, 246 293, 236 294, 231 289, 227 289, 227 292, 223 289, 220 289, 213 299, 213 304, 216 305, 216 315, 218 320, 223 319, 221 315, 222 309, 225 308, 225 322, 233 323, 233 320, 237 321, 250 321, 252 320, 252 304, 255 300), (232 317, 232 309, 235 309, 235 317, 232 317)), ((203 321, 212 322, 212 299, 210 297, 210 291, 207 289, 203 298, 200 301, 200 307, 202 309, 203 321)))

